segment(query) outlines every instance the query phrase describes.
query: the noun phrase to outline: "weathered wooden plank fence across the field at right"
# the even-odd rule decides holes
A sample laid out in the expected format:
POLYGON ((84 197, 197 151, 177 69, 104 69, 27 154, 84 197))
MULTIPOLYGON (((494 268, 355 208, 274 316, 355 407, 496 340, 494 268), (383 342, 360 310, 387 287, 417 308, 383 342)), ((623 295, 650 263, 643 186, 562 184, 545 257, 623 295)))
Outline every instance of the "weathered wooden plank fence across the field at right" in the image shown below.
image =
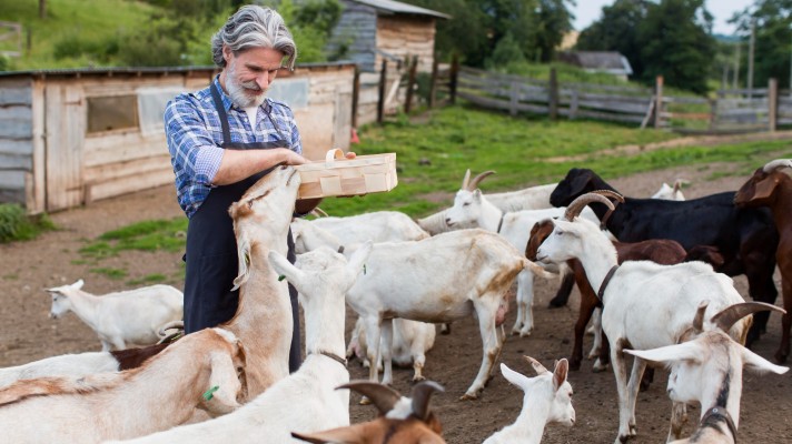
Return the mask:
MULTIPOLYGON (((537 80, 462 67, 451 70, 451 101, 455 95, 476 105, 508 111, 597 119, 666 128, 682 132, 774 131, 792 124, 792 95, 766 89, 719 91, 713 99, 664 95, 663 78, 655 88, 561 84, 551 70, 550 80, 537 80), (453 77, 457 73, 456 78, 453 77)), ((439 80, 438 80, 439 81, 439 80)))

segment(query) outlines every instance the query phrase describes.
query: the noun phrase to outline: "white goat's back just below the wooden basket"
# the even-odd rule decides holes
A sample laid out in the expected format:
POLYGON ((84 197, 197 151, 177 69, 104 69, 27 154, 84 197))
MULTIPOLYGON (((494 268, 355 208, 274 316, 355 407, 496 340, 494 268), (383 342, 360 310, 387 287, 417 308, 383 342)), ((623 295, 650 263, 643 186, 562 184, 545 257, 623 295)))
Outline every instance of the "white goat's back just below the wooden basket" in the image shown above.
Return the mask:
POLYGON ((297 254, 319 245, 337 249, 366 241, 419 241, 429 236, 407 214, 398 211, 376 211, 347 218, 295 219, 291 235, 297 254), (329 234, 328 234, 329 233, 329 234))

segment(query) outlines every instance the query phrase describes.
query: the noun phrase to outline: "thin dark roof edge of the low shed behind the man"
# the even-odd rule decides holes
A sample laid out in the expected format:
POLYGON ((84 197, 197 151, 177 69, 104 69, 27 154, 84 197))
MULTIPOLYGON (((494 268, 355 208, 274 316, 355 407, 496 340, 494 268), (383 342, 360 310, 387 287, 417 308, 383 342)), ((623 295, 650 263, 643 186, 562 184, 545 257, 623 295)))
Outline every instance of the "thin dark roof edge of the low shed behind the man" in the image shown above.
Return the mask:
MULTIPOLYGON (((352 61, 337 61, 326 63, 300 63, 296 68, 323 68, 323 67, 347 67, 355 65, 352 61)), ((115 68, 70 68, 70 69, 42 69, 30 71, 0 71, 0 78, 10 77, 112 77, 119 75, 162 75, 219 72, 220 68, 214 65, 204 67, 115 67, 115 68)))

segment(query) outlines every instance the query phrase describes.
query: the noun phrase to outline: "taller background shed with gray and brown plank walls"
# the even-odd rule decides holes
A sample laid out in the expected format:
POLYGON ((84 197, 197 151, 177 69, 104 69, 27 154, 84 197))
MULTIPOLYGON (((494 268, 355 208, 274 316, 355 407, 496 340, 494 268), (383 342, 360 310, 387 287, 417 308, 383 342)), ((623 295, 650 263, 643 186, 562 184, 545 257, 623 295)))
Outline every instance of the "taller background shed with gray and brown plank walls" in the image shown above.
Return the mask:
POLYGON ((327 53, 356 62, 364 72, 379 70, 383 58, 418 57, 418 71, 430 72, 435 22, 451 16, 392 0, 340 0, 344 7, 327 53))

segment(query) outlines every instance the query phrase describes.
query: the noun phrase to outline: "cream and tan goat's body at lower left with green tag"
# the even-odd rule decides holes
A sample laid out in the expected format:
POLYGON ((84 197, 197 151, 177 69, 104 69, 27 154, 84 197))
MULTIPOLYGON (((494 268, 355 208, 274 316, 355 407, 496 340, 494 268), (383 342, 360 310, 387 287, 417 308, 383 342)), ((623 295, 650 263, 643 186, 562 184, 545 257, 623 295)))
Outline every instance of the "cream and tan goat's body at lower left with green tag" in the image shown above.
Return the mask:
POLYGON ((245 352, 236 336, 207 329, 185 336, 140 369, 78 380, 20 381, 0 391, 3 441, 99 443, 170 428, 189 420, 196 407, 226 414, 239 407, 244 366, 245 352), (190 365, 181 365, 187 362, 190 365))

